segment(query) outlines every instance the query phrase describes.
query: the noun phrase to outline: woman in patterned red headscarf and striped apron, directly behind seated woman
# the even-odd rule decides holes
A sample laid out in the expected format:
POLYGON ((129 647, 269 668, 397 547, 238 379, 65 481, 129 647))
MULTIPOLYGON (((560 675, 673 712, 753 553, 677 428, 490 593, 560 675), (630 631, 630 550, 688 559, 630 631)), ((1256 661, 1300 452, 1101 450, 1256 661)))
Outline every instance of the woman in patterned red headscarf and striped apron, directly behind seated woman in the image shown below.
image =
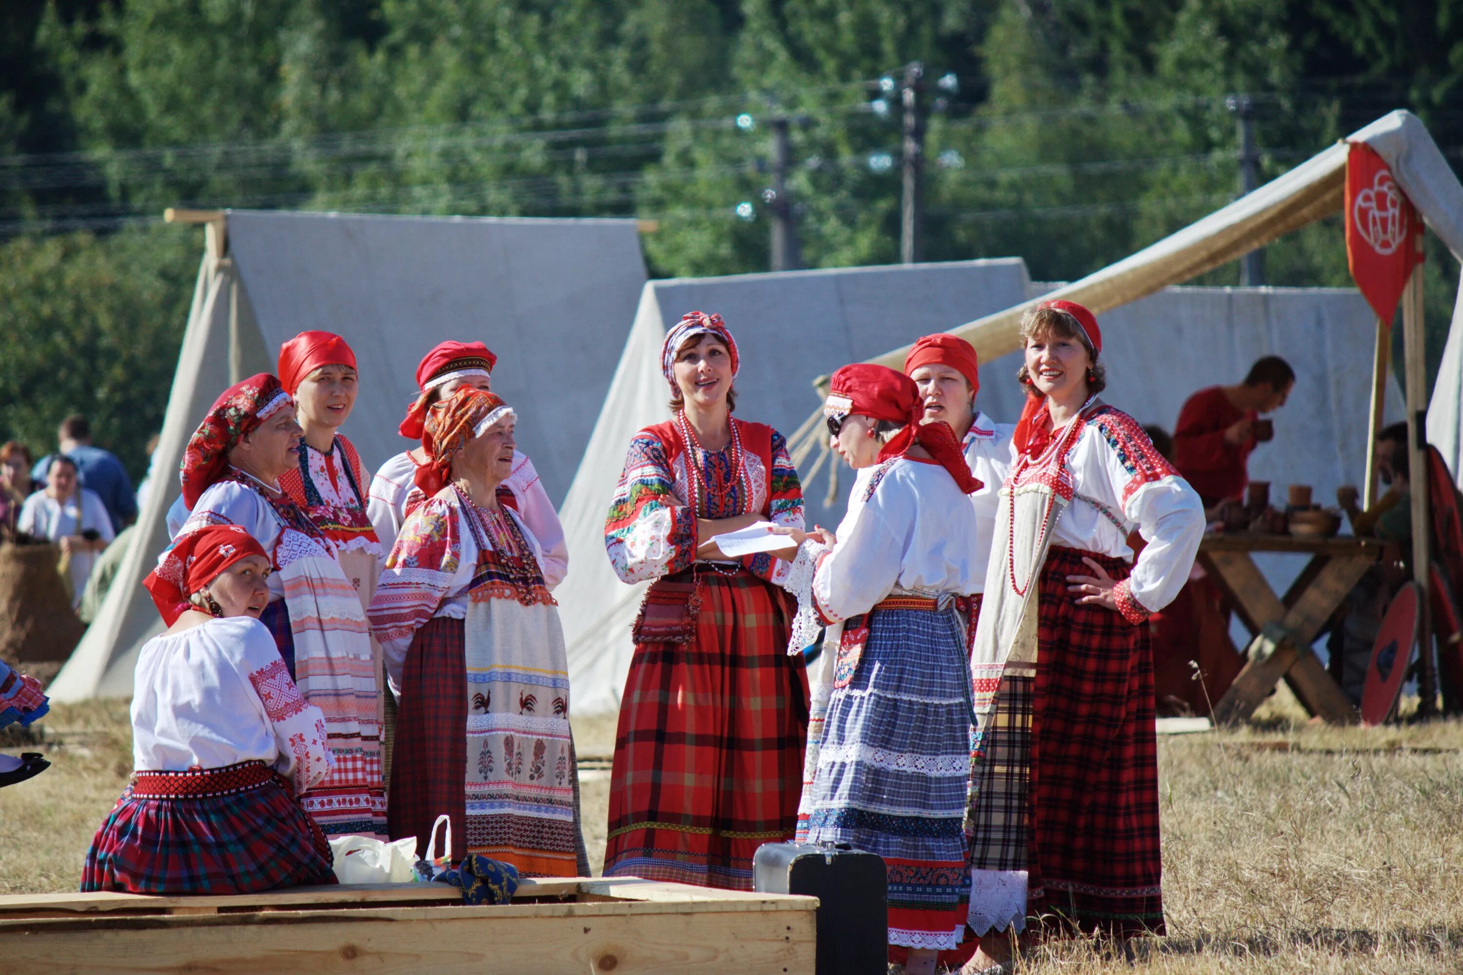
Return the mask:
POLYGON ((306 702, 325 712, 336 760, 301 803, 329 836, 385 838, 370 631, 335 542, 279 487, 300 463, 298 444, 294 402, 278 379, 260 373, 224 390, 183 455, 190 515, 174 545, 208 525, 238 525, 269 555, 274 573, 260 621, 306 702))

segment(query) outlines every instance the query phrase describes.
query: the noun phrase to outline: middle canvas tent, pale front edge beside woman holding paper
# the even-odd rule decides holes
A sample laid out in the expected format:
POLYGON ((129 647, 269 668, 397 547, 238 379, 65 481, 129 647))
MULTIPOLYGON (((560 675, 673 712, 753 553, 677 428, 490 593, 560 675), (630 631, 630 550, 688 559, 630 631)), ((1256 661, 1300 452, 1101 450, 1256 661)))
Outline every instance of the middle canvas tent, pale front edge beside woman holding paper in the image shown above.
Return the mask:
MULTIPOLYGON (((647 282, 600 421, 560 510, 569 576, 554 596, 569 645, 576 713, 614 710, 625 686, 629 627, 644 586, 626 586, 610 569, 604 515, 631 437, 670 417, 670 389, 660 371, 666 329, 686 311, 721 313, 742 355, 737 415, 772 424, 790 437, 816 402, 811 383, 819 373, 942 330, 971 308, 1008 307, 1024 300, 1027 289, 1020 259, 647 282)), ((809 520, 837 525, 843 500, 830 510, 822 494, 811 491, 809 520)))

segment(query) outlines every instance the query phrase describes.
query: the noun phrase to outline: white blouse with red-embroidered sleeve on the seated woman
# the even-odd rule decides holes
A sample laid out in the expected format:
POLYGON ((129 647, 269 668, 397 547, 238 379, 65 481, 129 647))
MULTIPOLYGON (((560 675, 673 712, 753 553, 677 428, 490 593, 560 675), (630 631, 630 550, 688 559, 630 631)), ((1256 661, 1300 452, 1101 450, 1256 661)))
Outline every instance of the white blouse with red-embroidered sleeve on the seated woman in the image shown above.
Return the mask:
POLYGON ((138 656, 132 760, 139 772, 259 760, 296 794, 335 767, 325 715, 304 703, 274 637, 253 617, 154 637, 138 656))

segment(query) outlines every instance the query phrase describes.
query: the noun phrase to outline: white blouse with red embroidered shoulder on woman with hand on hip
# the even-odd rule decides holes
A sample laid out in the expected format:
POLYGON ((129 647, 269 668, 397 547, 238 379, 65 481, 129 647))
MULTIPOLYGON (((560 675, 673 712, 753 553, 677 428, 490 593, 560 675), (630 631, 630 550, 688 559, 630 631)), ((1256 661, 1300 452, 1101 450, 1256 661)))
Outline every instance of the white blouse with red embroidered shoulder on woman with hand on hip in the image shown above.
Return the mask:
POLYGON ((1148 544, 1124 589, 1138 602, 1135 615, 1169 605, 1204 536, 1204 504, 1194 488, 1138 421, 1110 408, 1086 422, 1067 469, 1074 496, 1052 528, 1052 544, 1131 561, 1128 535, 1137 531, 1148 544))

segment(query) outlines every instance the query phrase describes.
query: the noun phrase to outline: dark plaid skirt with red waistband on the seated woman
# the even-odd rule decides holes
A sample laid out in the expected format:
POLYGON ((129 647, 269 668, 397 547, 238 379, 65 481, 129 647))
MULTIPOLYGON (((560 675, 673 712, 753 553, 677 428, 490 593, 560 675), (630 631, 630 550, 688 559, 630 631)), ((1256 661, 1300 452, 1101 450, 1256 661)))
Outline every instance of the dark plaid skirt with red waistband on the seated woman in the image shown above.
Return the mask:
POLYGON ((256 893, 335 883, 331 846, 263 762, 138 772, 97 830, 82 890, 256 893))

